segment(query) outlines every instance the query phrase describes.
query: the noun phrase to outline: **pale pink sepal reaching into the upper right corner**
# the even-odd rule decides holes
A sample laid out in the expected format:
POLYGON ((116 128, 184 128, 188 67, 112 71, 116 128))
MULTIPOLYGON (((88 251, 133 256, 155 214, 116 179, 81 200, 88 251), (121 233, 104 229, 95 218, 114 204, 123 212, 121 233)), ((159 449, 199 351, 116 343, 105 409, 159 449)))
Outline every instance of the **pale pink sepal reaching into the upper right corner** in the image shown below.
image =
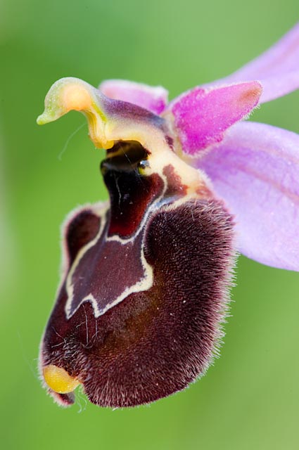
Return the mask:
POLYGON ((204 86, 218 86, 258 79, 263 92, 260 103, 285 96, 299 88, 299 23, 274 46, 226 78, 204 86))

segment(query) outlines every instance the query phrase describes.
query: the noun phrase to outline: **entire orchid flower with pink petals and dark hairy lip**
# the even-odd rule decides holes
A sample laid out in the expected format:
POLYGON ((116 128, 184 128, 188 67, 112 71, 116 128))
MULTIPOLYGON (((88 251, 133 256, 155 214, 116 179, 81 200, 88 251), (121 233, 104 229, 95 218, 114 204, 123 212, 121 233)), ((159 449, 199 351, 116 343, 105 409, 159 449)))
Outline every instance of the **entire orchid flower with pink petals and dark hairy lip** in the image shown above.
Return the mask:
POLYGON ((225 79, 167 104, 162 87, 58 80, 37 122, 70 110, 106 150, 109 202, 72 212, 40 351, 58 404, 146 404, 201 377, 219 352, 238 252, 299 269, 299 136, 246 122, 299 87, 299 25, 225 79))

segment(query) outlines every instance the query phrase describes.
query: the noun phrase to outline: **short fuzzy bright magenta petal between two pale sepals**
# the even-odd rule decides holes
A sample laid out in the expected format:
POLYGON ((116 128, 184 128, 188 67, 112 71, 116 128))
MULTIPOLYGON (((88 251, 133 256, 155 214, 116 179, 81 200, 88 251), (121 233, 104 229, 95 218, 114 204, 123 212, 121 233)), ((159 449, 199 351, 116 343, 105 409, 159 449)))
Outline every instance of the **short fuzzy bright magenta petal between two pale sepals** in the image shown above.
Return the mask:
POLYGON ((176 98, 168 109, 184 153, 195 156, 222 141, 224 131, 255 108, 261 93, 260 83, 249 82, 209 91, 196 87, 176 98))

